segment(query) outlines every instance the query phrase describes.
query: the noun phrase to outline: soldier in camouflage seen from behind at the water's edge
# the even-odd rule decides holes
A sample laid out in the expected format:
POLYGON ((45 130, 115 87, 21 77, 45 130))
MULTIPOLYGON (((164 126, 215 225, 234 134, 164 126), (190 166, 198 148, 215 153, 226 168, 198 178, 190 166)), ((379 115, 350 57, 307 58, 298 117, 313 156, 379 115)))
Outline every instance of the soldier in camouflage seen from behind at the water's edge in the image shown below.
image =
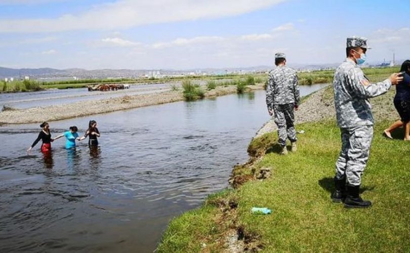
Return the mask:
POLYGON ((276 68, 269 73, 266 88, 266 105, 269 115, 275 115, 278 128, 278 142, 281 154, 287 154, 286 137, 292 142, 292 152, 296 152, 296 131, 294 109, 299 105, 299 87, 296 71, 286 65, 283 53, 275 54, 276 68))

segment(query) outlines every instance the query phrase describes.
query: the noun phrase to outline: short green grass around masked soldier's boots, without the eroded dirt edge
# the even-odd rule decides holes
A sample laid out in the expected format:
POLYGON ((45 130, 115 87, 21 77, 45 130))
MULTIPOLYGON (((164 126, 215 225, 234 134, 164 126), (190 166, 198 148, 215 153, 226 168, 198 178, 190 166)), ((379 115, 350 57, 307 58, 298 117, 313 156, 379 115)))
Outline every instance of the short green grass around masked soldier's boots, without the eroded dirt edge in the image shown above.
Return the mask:
POLYGON ((257 165, 272 168, 273 178, 239 188, 239 223, 261 236, 266 252, 408 252, 410 157, 402 155, 408 143, 383 138, 388 123, 375 129, 362 182, 362 196, 374 206, 348 210, 331 202, 340 131, 333 121, 302 124, 297 153, 271 152, 257 165), (251 215, 252 206, 267 206, 272 215, 251 215))

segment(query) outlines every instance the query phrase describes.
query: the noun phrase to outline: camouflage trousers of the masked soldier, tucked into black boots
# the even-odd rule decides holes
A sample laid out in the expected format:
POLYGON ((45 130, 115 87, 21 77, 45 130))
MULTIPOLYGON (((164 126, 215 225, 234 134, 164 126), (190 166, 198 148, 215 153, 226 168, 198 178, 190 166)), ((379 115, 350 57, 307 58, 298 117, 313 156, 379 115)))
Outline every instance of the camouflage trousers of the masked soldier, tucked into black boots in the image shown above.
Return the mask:
POLYGON ((341 128, 342 150, 336 161, 336 178, 346 177, 348 185, 361 184, 373 139, 373 125, 341 128))

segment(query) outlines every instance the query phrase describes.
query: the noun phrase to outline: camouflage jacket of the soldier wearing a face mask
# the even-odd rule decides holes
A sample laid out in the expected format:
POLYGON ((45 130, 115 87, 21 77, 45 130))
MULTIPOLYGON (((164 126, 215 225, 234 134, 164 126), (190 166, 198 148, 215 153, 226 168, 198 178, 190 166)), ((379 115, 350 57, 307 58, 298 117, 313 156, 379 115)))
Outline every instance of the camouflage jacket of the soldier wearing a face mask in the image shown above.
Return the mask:
POLYGON ((340 128, 373 125, 372 106, 368 98, 386 93, 391 82, 386 79, 370 83, 357 64, 347 58, 335 72, 333 89, 335 95, 336 118, 340 128))

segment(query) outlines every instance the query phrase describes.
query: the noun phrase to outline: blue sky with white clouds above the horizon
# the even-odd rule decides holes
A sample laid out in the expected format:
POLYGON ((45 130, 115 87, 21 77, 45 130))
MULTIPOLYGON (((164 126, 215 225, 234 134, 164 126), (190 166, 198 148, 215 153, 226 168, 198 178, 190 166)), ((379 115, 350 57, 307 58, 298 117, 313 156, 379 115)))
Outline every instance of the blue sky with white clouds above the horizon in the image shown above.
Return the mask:
POLYGON ((0 0, 0 66, 198 69, 410 58, 408 0, 0 0))

